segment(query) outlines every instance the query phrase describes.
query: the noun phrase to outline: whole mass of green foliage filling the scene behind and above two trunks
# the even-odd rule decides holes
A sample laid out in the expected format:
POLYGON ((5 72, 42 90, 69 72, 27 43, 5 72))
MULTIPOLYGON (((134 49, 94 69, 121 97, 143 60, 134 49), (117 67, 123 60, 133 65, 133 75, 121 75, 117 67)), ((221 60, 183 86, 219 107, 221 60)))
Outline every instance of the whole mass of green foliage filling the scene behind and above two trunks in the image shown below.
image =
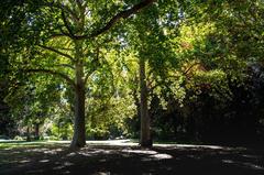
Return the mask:
POLYGON ((51 2, 0 2, 1 134, 40 124, 43 136, 72 139, 78 78, 88 139, 138 134, 140 61, 154 136, 233 132, 235 120, 261 131, 262 0, 158 0, 95 37, 139 1, 51 2))

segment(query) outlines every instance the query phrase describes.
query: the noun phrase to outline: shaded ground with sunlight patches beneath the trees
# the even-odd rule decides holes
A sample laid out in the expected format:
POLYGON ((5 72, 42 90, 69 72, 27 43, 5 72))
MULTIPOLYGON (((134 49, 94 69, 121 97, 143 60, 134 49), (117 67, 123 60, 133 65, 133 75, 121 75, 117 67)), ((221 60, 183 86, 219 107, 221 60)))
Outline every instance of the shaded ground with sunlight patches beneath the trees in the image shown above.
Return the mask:
POLYGON ((201 174, 264 175, 264 150, 157 144, 87 145, 69 151, 68 143, 0 143, 1 175, 52 174, 201 174))

